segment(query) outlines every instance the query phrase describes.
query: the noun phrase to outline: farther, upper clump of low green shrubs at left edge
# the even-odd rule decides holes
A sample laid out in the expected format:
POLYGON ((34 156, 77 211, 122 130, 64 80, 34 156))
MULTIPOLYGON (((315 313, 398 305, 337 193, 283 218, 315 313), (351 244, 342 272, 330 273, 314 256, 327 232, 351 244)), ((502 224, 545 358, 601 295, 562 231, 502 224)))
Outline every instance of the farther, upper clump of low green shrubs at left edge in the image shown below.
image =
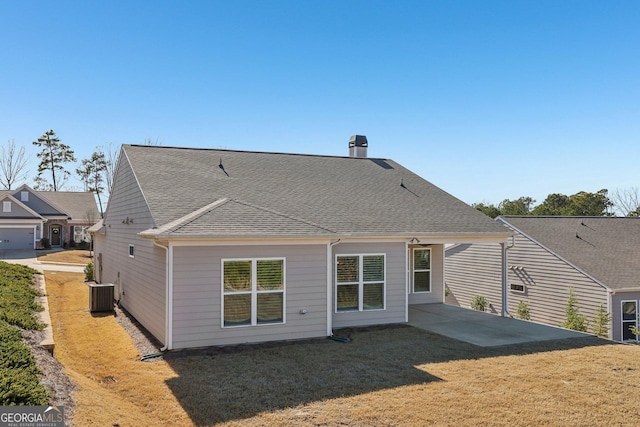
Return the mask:
POLYGON ((0 261, 0 320, 24 329, 42 329, 36 313, 42 306, 35 301, 33 275, 38 272, 24 265, 0 261))

